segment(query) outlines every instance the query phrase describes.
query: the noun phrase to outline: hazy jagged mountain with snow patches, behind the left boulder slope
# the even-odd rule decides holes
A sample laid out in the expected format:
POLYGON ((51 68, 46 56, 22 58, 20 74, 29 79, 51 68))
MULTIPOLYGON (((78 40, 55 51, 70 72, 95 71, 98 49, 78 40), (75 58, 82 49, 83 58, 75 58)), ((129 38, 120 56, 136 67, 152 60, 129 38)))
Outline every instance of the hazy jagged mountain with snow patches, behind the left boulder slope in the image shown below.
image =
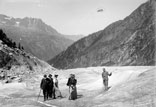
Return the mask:
POLYGON ((0 14, 0 28, 27 52, 49 60, 73 43, 54 28, 36 18, 13 18, 0 14))

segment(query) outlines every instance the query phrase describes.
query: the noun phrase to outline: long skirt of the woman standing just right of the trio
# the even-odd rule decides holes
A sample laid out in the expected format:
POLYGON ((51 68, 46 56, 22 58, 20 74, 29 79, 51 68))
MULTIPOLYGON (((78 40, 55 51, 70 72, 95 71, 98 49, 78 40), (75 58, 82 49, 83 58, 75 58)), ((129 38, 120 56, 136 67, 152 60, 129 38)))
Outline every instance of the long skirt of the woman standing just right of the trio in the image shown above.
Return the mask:
POLYGON ((76 86, 69 87, 69 100, 77 99, 77 89, 76 86))

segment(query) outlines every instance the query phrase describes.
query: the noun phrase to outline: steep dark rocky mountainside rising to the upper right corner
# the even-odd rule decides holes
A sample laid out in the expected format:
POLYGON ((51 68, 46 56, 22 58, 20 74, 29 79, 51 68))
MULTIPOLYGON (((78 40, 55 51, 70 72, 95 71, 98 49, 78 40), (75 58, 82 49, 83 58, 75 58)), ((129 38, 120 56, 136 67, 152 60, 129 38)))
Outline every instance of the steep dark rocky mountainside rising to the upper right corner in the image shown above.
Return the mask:
POLYGON ((68 47, 48 62, 56 68, 155 65, 155 0, 68 47))

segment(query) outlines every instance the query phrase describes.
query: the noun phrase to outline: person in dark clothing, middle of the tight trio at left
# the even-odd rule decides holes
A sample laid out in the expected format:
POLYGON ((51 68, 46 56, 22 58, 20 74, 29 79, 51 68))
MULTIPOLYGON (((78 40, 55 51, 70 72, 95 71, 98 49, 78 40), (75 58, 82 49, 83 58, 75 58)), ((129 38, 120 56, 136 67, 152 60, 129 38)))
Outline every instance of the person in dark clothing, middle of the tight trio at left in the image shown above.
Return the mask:
POLYGON ((48 97, 49 98, 52 98, 52 95, 55 99, 55 93, 54 93, 54 82, 53 82, 53 78, 52 78, 52 75, 49 74, 48 76, 48 97))

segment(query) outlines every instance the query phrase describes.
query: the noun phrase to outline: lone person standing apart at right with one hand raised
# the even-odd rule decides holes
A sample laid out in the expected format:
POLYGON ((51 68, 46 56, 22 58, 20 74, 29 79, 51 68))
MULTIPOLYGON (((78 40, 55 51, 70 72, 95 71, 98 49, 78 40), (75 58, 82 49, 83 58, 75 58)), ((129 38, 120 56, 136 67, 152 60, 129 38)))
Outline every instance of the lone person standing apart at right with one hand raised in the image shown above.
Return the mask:
POLYGON ((103 79, 103 85, 105 87, 105 90, 108 89, 108 76, 111 76, 112 73, 108 73, 105 68, 103 68, 103 72, 102 72, 102 79, 103 79))

